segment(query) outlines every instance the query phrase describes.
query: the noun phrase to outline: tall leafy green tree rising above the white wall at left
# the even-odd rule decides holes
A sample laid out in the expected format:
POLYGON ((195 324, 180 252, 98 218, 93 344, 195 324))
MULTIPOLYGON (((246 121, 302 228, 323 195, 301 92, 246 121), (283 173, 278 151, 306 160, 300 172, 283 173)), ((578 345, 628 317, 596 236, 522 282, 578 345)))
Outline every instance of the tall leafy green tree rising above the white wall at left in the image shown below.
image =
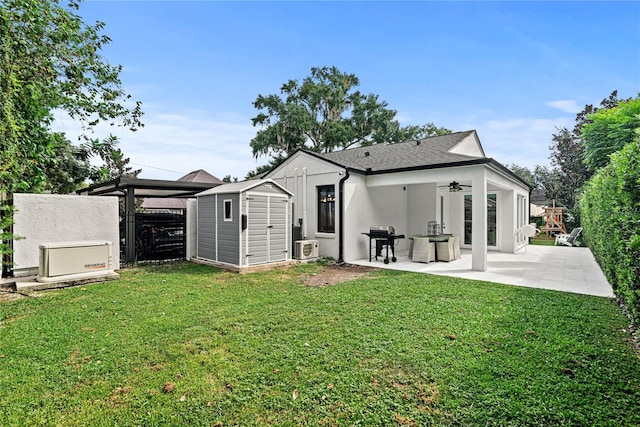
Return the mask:
POLYGON ((8 195, 69 180, 60 176, 47 184, 62 168, 56 159, 73 157, 64 137, 50 130, 54 110, 79 121, 86 135, 100 122, 142 126, 140 102, 129 105, 121 87, 121 66, 100 56, 110 41, 101 34, 104 24, 85 24, 75 14, 79 4, 0 3, 0 186, 8 195))

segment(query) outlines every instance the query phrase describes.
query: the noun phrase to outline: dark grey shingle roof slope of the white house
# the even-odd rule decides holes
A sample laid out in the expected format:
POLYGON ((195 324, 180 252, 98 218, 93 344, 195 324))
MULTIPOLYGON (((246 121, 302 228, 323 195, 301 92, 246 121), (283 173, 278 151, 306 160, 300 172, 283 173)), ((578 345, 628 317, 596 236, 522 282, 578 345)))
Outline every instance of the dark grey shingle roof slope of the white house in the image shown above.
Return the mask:
POLYGON ((374 173, 486 159, 484 156, 476 157, 449 151, 474 133, 473 130, 456 132, 396 144, 350 148, 318 156, 346 168, 374 173))

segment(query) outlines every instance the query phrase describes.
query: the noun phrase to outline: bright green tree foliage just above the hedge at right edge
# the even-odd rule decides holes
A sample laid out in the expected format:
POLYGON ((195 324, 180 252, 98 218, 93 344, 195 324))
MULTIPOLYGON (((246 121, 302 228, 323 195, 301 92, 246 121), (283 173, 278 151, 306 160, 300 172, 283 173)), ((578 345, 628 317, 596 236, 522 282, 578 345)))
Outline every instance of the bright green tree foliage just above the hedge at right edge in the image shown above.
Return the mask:
POLYGON ((640 97, 620 101, 617 106, 599 110, 588 116, 590 123, 582 127, 584 164, 596 171, 609 163, 609 156, 621 150, 636 137, 640 127, 640 97))

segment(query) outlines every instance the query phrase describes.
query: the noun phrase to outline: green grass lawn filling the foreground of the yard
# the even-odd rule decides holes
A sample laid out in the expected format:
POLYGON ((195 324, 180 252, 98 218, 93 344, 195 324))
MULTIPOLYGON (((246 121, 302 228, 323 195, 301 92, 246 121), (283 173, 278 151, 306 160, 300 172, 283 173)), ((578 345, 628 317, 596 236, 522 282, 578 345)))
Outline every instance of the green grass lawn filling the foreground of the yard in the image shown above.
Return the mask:
POLYGON ((637 426, 612 300, 376 271, 137 268, 0 302, 0 425, 637 426))

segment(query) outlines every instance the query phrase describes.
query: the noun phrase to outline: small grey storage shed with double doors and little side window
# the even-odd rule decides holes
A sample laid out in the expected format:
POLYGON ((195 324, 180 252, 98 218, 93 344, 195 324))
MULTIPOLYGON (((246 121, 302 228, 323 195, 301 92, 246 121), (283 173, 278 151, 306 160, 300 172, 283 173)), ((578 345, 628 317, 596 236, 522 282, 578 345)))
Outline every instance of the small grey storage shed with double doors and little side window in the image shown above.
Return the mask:
POLYGON ((270 179, 197 194, 196 260, 238 269, 291 260, 291 196, 270 179))

